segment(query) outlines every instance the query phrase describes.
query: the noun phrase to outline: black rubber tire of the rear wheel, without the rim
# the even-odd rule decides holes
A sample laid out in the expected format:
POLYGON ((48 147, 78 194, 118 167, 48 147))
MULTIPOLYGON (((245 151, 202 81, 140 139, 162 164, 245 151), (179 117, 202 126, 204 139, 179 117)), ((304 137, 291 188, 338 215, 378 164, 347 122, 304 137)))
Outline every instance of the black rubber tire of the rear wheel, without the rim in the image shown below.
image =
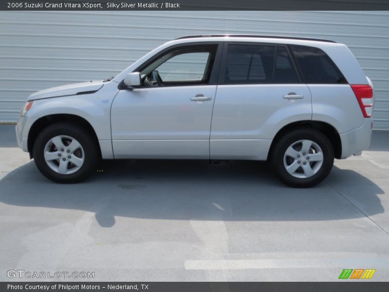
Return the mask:
MULTIPOLYGON (((330 173, 334 164, 334 148, 328 138, 312 128, 295 129, 275 141, 270 153, 270 164, 275 175, 285 184, 292 187, 311 187, 323 181, 330 173), (318 171, 311 177, 296 178, 286 171, 284 154, 289 146, 300 140, 310 140, 316 143, 323 152, 323 162, 318 171)), ((302 164, 301 164, 302 166, 302 164)), ((302 170, 302 169, 301 169, 302 170)))

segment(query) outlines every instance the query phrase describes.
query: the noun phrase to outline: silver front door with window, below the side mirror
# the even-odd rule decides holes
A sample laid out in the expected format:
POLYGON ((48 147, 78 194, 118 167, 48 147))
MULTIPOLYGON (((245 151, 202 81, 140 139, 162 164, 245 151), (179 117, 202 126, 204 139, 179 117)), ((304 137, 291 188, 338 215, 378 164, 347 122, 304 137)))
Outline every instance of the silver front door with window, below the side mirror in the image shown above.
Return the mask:
POLYGON ((175 47, 139 68, 111 109, 115 158, 209 159, 218 44, 175 47))

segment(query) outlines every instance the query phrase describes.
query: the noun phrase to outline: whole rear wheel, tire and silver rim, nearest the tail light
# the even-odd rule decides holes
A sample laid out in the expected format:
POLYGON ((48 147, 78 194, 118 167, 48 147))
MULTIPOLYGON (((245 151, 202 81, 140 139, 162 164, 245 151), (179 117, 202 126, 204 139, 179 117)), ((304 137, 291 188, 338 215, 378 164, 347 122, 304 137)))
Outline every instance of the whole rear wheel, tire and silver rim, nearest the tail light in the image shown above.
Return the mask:
POLYGON ((324 180, 334 164, 334 149, 318 130, 301 128, 284 135, 271 153, 276 176, 293 187, 310 187, 324 180))

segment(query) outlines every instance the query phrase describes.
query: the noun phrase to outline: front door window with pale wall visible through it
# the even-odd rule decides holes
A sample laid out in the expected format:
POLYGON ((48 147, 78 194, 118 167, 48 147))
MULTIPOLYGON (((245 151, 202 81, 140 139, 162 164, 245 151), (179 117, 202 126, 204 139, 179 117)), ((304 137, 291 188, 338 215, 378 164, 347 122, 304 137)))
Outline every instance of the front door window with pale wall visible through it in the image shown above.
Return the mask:
POLYGON ((141 70, 143 87, 207 84, 216 45, 169 51, 141 70))

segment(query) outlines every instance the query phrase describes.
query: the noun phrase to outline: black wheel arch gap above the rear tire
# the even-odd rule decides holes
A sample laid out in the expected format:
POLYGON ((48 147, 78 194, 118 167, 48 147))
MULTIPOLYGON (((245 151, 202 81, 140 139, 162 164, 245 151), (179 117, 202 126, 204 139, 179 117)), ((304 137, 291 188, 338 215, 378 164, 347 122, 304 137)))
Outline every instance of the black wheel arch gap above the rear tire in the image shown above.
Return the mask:
POLYGON ((296 128, 313 128, 321 133, 323 133, 328 140, 330 140, 333 148, 334 148, 334 154, 336 159, 340 159, 342 156, 342 143, 340 140, 340 135, 336 128, 326 122, 321 121, 312 121, 312 120, 306 120, 306 121, 298 121, 293 122, 290 124, 287 124, 281 128, 277 134, 274 136, 273 141, 270 145, 269 152, 267 154, 267 159, 270 157, 270 154, 272 150, 274 149, 274 146, 276 143, 280 140, 280 138, 287 133, 288 131, 296 128))

